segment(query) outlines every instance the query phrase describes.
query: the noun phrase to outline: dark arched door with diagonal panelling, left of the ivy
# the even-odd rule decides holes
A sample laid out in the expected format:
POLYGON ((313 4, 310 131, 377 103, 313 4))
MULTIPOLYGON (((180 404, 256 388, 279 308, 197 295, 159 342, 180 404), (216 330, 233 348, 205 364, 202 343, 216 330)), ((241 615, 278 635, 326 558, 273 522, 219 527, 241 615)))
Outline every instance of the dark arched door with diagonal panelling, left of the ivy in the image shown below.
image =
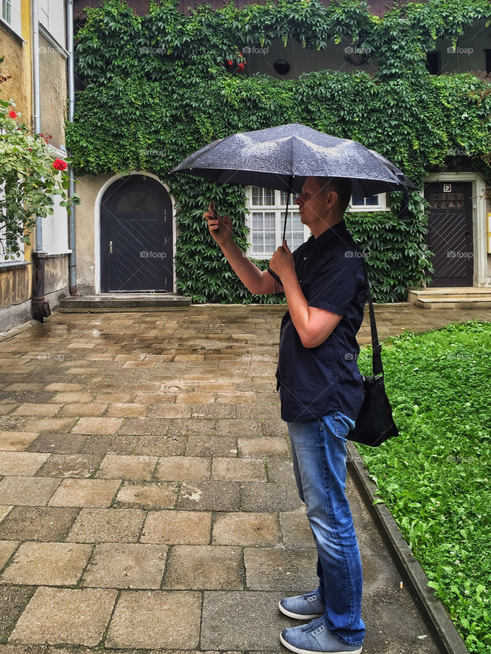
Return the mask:
POLYGON ((173 292, 172 201, 153 177, 113 181, 100 203, 101 292, 173 292))

